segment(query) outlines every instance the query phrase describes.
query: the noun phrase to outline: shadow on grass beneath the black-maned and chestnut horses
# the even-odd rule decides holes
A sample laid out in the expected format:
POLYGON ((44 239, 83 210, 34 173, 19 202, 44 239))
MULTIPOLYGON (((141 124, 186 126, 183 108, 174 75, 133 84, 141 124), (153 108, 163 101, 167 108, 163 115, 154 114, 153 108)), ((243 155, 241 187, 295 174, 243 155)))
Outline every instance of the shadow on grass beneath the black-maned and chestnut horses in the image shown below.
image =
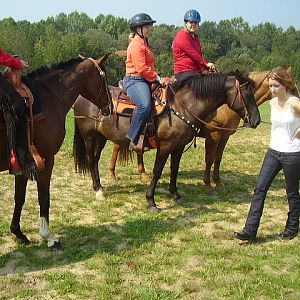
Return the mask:
MULTIPOLYGON (((202 173, 198 171, 181 171, 178 174, 177 180, 177 189, 179 194, 182 196, 183 201, 178 202, 177 204, 182 205, 183 207, 189 207, 195 201, 200 201, 203 204, 213 204, 219 202, 227 202, 233 204, 239 203, 250 203, 252 192, 256 186, 257 175, 249 175, 246 173, 240 172, 231 172, 225 171, 222 173, 224 187, 216 194, 208 194, 205 191, 205 185, 202 183, 202 173), (197 183, 187 183, 187 181, 199 178, 197 183), (200 179, 201 178, 201 179, 200 179)), ((169 173, 164 173, 162 178, 158 181, 155 190, 156 196, 169 196, 169 173)), ((195 182, 195 180, 193 180, 195 182)), ((134 193, 144 193, 149 188, 150 181, 148 183, 132 180, 128 181, 128 179, 122 178, 119 180, 120 184, 107 185, 107 197, 120 194, 120 195, 128 195, 128 189, 130 188, 131 192, 134 193), (128 182, 127 186, 122 184, 122 181, 128 182)), ((285 187, 284 179, 282 176, 278 176, 272 183, 271 190, 282 190, 285 187)), ((157 198, 157 197, 156 197, 157 198)), ((146 203, 146 197, 144 198, 146 203)), ((159 203, 157 203, 159 205, 159 203)))

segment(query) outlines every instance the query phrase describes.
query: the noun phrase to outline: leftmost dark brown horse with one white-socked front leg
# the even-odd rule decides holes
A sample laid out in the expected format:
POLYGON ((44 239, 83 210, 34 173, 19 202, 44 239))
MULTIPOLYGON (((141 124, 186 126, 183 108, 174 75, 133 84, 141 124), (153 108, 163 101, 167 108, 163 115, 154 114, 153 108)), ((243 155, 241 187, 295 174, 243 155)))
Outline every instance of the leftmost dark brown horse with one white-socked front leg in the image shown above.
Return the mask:
MULTIPOLYGON (((34 123, 34 141, 39 154, 45 159, 45 170, 38 174, 37 190, 40 205, 39 233, 49 247, 61 246, 59 239, 52 236, 49 230, 49 186, 54 156, 65 137, 66 114, 79 94, 102 109, 103 114, 111 112, 112 101, 103 71, 107 57, 108 55, 99 59, 75 58, 42 67, 28 75, 39 93, 40 107, 44 114, 42 120, 34 123)), ((27 180, 24 175, 15 176, 15 209, 10 226, 11 232, 25 244, 30 241, 21 231, 20 218, 27 180)))

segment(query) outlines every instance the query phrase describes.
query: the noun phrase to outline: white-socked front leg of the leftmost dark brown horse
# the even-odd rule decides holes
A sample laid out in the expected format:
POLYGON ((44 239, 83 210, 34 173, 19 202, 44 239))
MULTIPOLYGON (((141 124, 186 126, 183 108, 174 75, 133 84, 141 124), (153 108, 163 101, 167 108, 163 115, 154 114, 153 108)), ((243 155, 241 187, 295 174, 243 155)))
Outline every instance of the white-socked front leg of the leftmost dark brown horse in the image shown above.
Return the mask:
POLYGON ((49 209, 50 209, 50 179, 54 165, 54 157, 47 157, 46 168, 39 173, 37 181, 38 198, 40 205, 40 230, 41 237, 47 242, 49 248, 61 248, 62 245, 58 237, 53 236, 49 229, 49 209))

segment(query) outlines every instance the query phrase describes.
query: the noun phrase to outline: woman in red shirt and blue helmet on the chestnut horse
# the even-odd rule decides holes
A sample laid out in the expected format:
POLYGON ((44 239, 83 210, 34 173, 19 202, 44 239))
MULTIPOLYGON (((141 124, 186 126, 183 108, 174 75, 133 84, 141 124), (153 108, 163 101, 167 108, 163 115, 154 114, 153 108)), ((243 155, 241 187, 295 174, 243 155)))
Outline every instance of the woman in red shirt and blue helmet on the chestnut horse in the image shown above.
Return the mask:
POLYGON ((188 10, 183 19, 184 28, 177 32, 172 44, 174 75, 177 80, 208 70, 215 71, 215 65, 203 57, 201 41, 196 33, 201 22, 199 12, 188 10))

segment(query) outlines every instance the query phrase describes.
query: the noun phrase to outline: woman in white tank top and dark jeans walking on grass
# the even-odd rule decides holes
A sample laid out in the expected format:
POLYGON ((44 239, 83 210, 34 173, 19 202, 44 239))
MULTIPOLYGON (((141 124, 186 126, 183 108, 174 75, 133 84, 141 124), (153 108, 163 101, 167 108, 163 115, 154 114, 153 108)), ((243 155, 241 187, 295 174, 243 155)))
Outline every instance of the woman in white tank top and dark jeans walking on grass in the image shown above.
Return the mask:
POLYGON ((271 183, 283 170, 289 212, 282 239, 292 239, 299 231, 300 180, 300 100, 291 91, 295 84, 284 68, 275 68, 269 75, 273 98, 271 105, 271 139, 261 166, 246 224, 234 236, 240 240, 256 239, 264 202, 271 183))

